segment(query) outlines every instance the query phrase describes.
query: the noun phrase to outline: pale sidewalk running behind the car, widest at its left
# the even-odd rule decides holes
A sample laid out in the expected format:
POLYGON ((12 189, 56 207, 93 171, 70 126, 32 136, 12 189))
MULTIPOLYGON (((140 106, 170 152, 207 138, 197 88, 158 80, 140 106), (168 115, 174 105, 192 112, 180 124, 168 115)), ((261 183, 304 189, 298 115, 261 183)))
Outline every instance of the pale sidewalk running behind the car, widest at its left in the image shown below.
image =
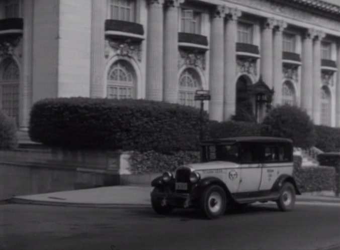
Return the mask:
MULTIPOLYGON (((77 207, 151 207, 151 186, 111 186, 55 193, 15 196, 11 203, 40 204, 77 207)), ((340 198, 302 194, 296 196, 296 204, 322 203, 339 205, 340 198)))

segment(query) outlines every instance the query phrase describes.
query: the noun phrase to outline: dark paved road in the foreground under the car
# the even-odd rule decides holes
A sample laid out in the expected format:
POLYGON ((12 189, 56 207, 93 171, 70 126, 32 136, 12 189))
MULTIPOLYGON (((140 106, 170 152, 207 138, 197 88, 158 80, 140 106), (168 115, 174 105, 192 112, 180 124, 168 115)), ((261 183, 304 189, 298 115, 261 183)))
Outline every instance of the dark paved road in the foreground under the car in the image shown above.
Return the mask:
POLYGON ((250 206, 206 220, 199 211, 0 205, 0 249, 338 249, 340 206, 250 206))

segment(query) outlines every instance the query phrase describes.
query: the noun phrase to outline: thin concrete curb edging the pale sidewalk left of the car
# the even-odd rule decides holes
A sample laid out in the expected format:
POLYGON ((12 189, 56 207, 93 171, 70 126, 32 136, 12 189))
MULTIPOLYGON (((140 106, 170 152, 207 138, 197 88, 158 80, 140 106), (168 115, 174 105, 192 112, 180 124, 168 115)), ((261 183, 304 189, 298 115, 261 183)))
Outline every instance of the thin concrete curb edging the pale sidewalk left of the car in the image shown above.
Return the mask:
POLYGON ((96 204, 96 203, 76 203, 76 202, 53 202, 29 200, 23 198, 11 198, 5 203, 45 205, 45 206, 66 206, 66 207, 97 207, 97 208, 151 208, 151 204, 96 204))

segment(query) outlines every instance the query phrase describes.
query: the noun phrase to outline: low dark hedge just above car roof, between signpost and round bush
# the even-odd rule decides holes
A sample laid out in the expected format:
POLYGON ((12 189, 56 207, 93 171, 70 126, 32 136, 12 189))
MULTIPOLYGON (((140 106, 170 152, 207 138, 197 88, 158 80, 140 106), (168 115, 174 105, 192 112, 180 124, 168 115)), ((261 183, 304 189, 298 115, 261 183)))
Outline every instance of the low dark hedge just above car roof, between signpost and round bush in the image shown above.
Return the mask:
POLYGON ((237 136, 266 135, 267 126, 245 121, 210 121, 209 136, 212 138, 228 138, 237 136))

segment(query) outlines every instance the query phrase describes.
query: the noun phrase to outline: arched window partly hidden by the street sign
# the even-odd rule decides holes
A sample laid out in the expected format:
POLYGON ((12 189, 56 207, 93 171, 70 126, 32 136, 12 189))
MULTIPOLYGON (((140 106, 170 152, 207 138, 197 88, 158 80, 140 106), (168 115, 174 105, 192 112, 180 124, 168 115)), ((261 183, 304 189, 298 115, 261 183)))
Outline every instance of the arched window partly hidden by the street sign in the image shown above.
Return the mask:
POLYGON ((182 72, 180 77, 180 91, 179 91, 179 103, 182 105, 188 105, 198 107, 198 101, 195 101, 195 92, 197 89, 201 89, 201 82, 198 73, 194 69, 186 69, 182 72))

